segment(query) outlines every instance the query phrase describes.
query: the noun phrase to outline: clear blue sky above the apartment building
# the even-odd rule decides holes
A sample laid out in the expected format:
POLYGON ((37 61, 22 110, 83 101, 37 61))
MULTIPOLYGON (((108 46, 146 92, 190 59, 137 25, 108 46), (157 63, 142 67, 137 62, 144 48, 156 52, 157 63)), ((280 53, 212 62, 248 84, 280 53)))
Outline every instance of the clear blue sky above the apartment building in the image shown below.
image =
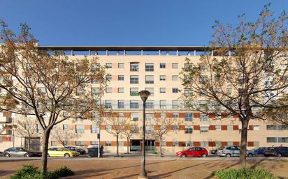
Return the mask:
MULTIPOLYGON (((1 0, 13 31, 31 26, 40 45, 208 45, 215 20, 257 19, 265 0, 1 0)), ((279 15, 288 1, 273 0, 279 15)))

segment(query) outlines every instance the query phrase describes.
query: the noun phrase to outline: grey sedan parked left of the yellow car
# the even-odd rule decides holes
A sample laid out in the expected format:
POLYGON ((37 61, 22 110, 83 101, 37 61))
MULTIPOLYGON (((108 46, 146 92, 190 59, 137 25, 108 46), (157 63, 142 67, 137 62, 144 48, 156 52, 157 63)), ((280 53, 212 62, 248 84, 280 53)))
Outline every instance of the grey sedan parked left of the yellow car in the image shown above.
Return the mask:
POLYGON ((41 157, 42 153, 38 151, 29 151, 25 148, 8 148, 3 152, 5 157, 41 157))

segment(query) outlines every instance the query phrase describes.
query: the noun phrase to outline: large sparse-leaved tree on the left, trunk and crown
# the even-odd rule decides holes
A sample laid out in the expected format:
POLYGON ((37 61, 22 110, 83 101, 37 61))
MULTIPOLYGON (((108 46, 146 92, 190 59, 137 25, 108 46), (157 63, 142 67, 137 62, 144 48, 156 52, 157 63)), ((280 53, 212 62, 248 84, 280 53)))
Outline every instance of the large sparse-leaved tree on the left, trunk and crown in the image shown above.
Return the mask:
POLYGON ((99 95, 90 82, 106 84, 105 70, 96 56, 69 58, 62 52, 43 52, 26 24, 20 34, 1 22, 0 109, 35 116, 43 128, 41 171, 47 171, 48 142, 54 125, 69 118, 85 118, 98 109, 99 95), (67 116, 60 115, 66 112, 67 116))

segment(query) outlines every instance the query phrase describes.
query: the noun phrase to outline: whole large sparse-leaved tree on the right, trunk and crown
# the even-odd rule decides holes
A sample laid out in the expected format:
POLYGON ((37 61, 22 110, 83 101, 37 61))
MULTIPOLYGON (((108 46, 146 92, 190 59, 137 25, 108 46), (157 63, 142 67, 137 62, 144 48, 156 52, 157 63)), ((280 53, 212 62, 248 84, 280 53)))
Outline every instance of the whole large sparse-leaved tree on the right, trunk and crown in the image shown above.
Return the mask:
POLYGON ((276 109, 287 77, 287 15, 273 18, 269 5, 256 22, 243 16, 235 28, 216 22, 209 53, 198 63, 187 59, 183 85, 187 106, 210 116, 237 115, 242 123, 240 166, 246 165, 250 119, 266 120, 261 109, 276 109))

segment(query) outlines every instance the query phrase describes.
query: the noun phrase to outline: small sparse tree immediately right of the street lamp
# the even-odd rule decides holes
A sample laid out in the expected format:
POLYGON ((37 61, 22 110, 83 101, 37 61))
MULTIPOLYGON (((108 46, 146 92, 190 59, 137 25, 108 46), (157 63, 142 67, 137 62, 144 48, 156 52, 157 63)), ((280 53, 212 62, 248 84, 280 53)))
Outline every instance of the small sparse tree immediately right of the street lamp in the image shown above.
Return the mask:
POLYGON ((163 157, 162 154, 162 141, 164 136, 168 132, 173 131, 173 125, 178 125, 177 118, 167 118, 167 117, 154 117, 153 120, 147 121, 148 125, 154 127, 154 137, 159 139, 159 152, 160 157, 163 157))

